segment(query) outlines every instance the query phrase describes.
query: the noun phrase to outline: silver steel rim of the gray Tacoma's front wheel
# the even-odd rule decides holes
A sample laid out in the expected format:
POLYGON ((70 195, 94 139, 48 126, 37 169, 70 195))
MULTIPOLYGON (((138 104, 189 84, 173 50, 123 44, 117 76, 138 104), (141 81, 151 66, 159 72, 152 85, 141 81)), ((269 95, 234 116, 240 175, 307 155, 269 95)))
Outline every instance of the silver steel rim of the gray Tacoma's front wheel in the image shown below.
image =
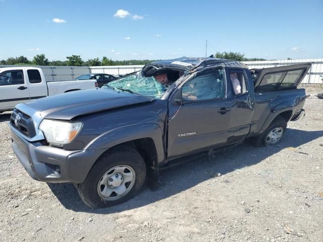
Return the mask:
POLYGON ((130 166, 114 166, 107 170, 99 179, 97 193, 106 201, 118 200, 130 192, 135 179, 135 171, 130 166))

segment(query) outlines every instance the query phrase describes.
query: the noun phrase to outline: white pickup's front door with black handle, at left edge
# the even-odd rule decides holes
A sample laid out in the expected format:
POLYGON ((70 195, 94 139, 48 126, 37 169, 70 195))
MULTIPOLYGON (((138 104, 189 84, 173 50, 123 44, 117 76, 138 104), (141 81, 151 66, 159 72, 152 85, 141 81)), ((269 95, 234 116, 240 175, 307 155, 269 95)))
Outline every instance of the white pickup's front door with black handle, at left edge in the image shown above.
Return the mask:
POLYGON ((5 71, 0 74, 0 110, 12 109, 18 103, 29 101, 28 83, 24 70, 5 71))

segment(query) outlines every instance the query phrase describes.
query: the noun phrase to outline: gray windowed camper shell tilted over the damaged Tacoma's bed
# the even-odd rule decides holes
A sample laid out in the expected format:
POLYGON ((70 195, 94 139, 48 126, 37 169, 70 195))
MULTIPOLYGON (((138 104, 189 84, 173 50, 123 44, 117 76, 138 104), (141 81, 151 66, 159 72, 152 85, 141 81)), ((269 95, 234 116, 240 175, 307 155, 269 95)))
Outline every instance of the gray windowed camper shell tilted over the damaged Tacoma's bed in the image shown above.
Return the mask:
POLYGON ((310 63, 257 70, 255 92, 295 89, 311 67, 310 63))

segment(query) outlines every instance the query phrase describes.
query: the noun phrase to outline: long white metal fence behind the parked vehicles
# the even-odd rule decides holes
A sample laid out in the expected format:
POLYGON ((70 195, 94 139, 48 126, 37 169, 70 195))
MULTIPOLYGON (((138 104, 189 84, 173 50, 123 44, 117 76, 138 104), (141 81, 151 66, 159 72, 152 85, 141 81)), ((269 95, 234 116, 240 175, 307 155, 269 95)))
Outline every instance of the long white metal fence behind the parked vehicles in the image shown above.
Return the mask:
MULTIPOLYGON (((322 59, 292 59, 282 61, 256 61, 244 62, 252 68, 279 67, 294 64, 311 63, 306 77, 302 83, 321 84, 323 79, 323 58, 322 59)), ((2 67, 18 67, 18 66, 0 66, 2 67)), ((39 67, 45 74, 47 81, 61 81, 75 79, 78 76, 89 73, 105 73, 112 75, 125 75, 131 72, 139 71, 143 65, 136 66, 104 66, 104 67, 51 67, 51 66, 34 66, 39 67)))

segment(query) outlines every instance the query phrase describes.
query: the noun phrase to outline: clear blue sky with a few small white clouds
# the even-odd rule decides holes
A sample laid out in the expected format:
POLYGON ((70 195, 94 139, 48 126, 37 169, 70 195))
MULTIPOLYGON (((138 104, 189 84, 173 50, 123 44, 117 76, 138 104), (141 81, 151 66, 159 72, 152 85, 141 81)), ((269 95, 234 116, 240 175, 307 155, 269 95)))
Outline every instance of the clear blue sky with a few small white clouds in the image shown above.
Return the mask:
POLYGON ((0 0, 0 59, 323 58, 323 0, 0 0))

